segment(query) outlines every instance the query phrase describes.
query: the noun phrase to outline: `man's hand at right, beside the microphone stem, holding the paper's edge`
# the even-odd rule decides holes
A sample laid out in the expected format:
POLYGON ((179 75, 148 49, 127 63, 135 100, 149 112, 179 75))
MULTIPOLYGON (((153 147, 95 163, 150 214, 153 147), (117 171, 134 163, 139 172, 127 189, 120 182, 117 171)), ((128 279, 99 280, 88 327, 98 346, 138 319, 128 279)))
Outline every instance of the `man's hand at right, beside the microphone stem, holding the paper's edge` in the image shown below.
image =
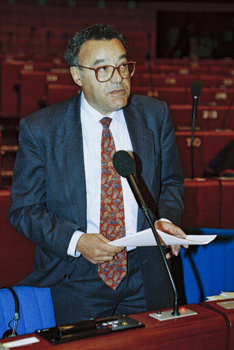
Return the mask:
MULTIPOLYGON (((166 234, 171 234, 172 236, 180 236, 181 238, 186 238, 185 232, 179 226, 174 225, 173 223, 168 223, 168 221, 157 221, 155 223, 155 229, 159 229, 166 234)), ((188 245, 183 245, 184 248, 188 248, 188 245)), ((181 250, 181 245, 171 245, 170 251, 166 254, 166 259, 172 258, 174 255, 179 255, 181 250)))

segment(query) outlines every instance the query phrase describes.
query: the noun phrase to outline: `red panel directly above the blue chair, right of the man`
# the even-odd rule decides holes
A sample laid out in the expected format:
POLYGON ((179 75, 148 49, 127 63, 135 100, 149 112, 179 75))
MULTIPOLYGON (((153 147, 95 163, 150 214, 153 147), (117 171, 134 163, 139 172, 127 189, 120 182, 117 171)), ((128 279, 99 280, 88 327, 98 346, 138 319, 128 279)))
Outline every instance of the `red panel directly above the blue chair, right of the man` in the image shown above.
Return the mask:
POLYGON ((185 179, 181 227, 234 229, 234 178, 185 179))

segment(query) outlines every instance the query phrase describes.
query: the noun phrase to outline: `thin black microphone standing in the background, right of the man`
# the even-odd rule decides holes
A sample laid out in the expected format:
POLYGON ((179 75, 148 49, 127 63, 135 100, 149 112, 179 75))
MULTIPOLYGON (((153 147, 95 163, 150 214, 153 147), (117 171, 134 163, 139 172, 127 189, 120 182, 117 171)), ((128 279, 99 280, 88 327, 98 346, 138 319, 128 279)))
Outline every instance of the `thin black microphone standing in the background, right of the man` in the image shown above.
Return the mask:
POLYGON ((194 131, 195 131, 195 120, 196 120, 196 109, 198 105, 198 97, 202 91, 202 84, 199 80, 194 80, 190 86, 190 92, 193 97, 192 107, 192 136, 191 136, 191 167, 192 167, 192 179, 194 178, 194 131))

